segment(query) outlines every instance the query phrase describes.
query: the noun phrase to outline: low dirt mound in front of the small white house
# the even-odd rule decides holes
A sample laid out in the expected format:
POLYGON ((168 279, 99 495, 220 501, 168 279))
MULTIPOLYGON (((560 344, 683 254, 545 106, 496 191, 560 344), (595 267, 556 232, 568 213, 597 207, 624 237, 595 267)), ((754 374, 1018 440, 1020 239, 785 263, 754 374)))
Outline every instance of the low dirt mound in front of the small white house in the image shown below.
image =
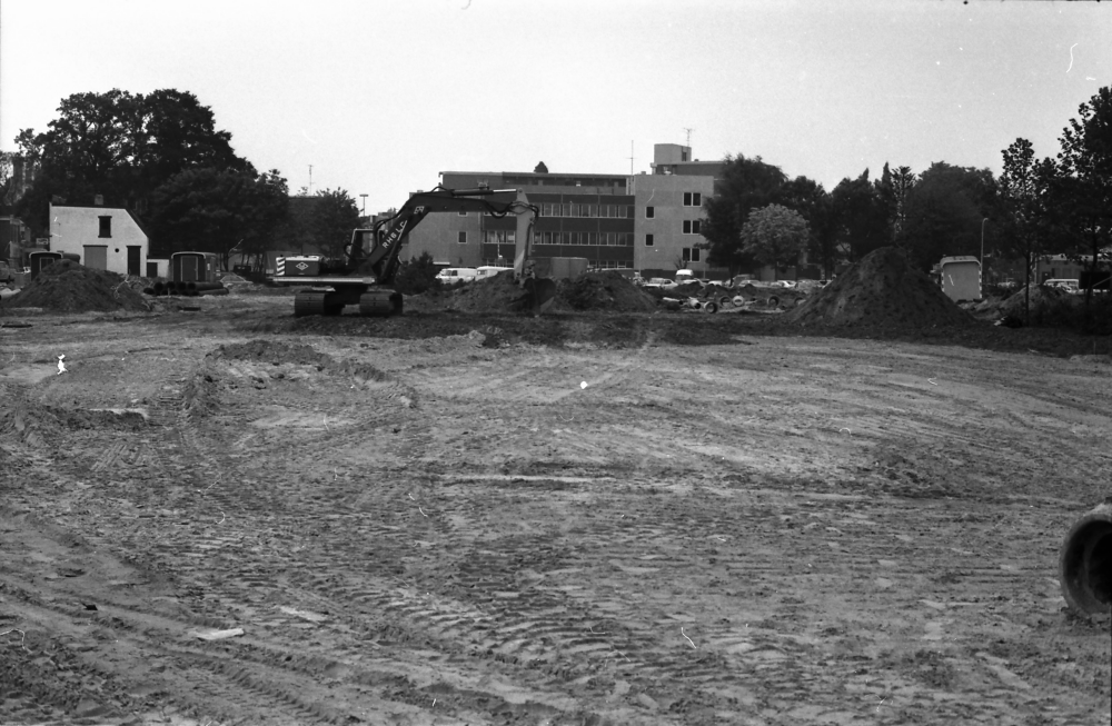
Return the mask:
POLYGON ((6 304, 7 308, 42 308, 57 312, 88 310, 150 310, 140 292, 116 272, 95 270, 72 260, 58 260, 6 304))

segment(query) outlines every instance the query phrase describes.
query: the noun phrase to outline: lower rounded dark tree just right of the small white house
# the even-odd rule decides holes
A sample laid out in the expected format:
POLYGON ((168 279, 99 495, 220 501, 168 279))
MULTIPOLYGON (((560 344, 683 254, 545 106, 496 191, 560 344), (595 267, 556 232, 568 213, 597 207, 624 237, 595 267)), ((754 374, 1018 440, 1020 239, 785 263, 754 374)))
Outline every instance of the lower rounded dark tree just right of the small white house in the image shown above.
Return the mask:
POLYGON ((286 217, 286 180, 230 169, 190 169, 173 176, 151 199, 150 223, 162 253, 234 249, 258 255, 286 217))

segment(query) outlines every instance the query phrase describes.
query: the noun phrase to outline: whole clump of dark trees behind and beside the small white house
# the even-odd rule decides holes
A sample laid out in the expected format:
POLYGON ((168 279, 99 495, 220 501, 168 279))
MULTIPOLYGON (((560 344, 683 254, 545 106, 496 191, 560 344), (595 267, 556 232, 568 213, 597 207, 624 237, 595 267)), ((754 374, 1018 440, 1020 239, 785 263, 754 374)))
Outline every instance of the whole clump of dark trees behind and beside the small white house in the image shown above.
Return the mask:
POLYGON ((307 211, 291 209, 287 180, 238 156, 231 133, 189 92, 75 93, 62 99, 48 130, 23 129, 0 165, 11 211, 36 237, 49 235, 49 205, 131 209, 159 255, 191 250, 259 258, 268 249, 309 246, 340 257, 359 211, 344 189, 326 189, 307 211), (18 198, 18 161, 33 180, 18 198))

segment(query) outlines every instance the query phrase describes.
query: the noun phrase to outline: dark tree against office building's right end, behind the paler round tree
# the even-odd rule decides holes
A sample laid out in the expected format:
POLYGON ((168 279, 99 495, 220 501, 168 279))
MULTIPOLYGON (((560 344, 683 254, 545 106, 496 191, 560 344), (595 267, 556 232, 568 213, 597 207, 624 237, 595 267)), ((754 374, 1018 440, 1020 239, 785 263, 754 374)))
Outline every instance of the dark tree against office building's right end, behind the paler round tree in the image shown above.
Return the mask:
POLYGON ((715 181, 714 196, 703 201, 705 218, 702 235, 709 250, 707 261, 729 268, 731 275, 754 262, 742 242, 742 227, 748 213, 778 200, 787 177, 780 167, 742 155, 727 156, 722 177, 715 181))

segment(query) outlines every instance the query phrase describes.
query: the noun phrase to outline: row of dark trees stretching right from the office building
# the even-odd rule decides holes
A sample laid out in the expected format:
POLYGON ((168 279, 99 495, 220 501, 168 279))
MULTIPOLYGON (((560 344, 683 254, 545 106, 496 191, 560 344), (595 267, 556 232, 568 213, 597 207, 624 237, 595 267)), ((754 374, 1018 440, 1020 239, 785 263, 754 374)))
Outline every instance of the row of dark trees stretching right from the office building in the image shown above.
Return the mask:
POLYGON ((761 157, 728 156, 704 200, 704 249, 732 272, 794 265, 806 251, 828 277, 838 263, 895 246, 924 271, 944 256, 984 249, 1024 259, 1029 277, 1044 253, 1084 258, 1096 274, 1112 245, 1112 89, 1081 105, 1060 145, 1055 157, 1036 160, 1030 141, 1016 139, 1002 151, 999 178, 944 161, 919 173, 885 163, 880 177, 865 169, 831 191, 761 157))

